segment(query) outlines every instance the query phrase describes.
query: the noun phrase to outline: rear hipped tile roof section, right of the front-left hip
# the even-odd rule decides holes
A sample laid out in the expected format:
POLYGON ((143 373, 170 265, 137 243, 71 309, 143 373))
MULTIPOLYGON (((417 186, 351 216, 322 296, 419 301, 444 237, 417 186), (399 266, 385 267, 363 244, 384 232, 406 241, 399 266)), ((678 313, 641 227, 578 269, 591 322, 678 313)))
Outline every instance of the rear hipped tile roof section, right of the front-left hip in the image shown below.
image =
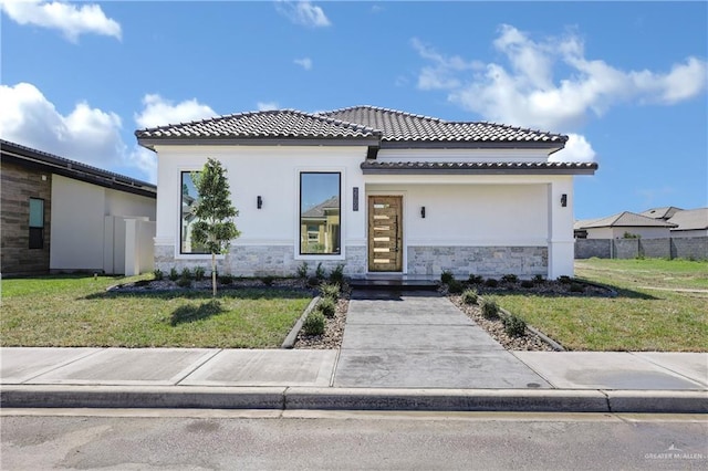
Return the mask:
POLYGON ((321 112, 320 116, 379 129, 384 142, 556 143, 568 136, 486 122, 447 122, 376 106, 321 112))

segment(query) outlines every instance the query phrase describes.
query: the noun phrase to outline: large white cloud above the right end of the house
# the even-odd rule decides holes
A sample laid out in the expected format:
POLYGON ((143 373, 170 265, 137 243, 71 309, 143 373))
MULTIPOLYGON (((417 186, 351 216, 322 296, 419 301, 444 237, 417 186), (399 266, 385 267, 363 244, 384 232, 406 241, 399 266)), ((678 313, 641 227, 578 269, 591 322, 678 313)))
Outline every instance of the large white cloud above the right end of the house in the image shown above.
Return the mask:
POLYGON ((493 41, 504 64, 482 64, 413 46, 429 65, 418 73, 420 90, 444 90, 448 100, 486 119, 543 129, 575 130, 591 116, 602 116, 618 103, 671 105, 706 90, 708 63, 688 57, 669 72, 624 71, 585 57, 575 33, 532 40, 502 25, 493 41), (570 69, 554 77, 556 65, 570 69))

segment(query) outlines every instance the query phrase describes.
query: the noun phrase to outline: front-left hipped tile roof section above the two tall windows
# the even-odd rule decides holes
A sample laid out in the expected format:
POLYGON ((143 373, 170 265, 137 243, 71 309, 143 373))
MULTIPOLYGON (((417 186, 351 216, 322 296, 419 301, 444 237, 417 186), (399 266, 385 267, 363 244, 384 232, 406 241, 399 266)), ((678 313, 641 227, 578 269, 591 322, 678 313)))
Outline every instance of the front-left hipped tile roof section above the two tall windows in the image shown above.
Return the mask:
POLYGON ((190 123, 138 129, 144 138, 366 138, 377 130, 294 109, 239 113, 190 123))

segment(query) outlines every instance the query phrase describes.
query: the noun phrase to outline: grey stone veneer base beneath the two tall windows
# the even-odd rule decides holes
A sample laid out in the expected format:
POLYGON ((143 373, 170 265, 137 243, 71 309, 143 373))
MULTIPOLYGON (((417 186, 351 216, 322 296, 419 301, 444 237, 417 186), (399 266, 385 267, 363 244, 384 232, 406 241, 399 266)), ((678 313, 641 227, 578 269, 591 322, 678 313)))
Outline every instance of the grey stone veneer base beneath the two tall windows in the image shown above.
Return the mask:
MULTIPOLYGON (((305 260, 308 270, 314 274, 319 260, 305 260)), ((302 265, 303 260, 295 260, 293 245, 231 245, 229 254, 217 260, 219 273, 233 276, 293 276, 302 265)), ((347 247, 346 260, 322 260, 322 268, 331 272, 337 264, 344 263, 344 274, 362 276, 366 273, 366 248, 347 247)), ((195 269, 204 266, 207 272, 211 266, 211 259, 175 260, 174 245, 155 247, 155 268, 168 273, 173 268, 178 272, 184 268, 195 269)))

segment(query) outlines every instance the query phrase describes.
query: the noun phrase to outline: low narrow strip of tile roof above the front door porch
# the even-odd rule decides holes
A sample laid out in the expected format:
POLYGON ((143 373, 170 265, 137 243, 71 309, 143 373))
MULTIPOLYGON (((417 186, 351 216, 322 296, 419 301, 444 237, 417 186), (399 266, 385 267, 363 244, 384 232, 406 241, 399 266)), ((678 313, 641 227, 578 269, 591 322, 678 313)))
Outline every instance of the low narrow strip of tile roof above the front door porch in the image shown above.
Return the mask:
POLYGON ((433 161, 379 161, 365 160, 361 165, 364 174, 593 174, 597 169, 596 163, 562 163, 562 161, 533 161, 533 163, 507 163, 507 161, 466 161, 466 163, 433 163, 433 161))

